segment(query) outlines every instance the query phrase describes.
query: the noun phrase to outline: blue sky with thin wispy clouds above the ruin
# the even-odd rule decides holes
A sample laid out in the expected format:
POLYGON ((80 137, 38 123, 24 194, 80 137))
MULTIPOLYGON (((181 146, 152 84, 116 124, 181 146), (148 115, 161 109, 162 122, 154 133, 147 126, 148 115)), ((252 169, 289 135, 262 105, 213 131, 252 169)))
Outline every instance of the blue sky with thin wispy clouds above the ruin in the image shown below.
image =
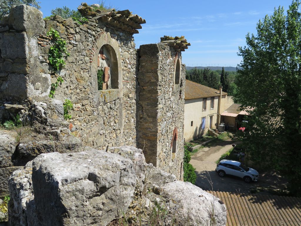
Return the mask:
MULTIPOLYGON (((39 0, 44 17, 51 9, 76 9, 83 0, 39 0)), ((88 4, 98 0, 86 1, 88 4)), ((279 5, 287 10, 292 0, 198 0, 198 1, 120 1, 106 0, 119 10, 129 9, 146 20, 135 34, 136 48, 160 42, 164 35, 184 35, 191 43, 182 53, 186 66, 233 66, 240 63, 238 46, 245 46, 248 32, 256 33, 256 23, 273 14, 279 5)))

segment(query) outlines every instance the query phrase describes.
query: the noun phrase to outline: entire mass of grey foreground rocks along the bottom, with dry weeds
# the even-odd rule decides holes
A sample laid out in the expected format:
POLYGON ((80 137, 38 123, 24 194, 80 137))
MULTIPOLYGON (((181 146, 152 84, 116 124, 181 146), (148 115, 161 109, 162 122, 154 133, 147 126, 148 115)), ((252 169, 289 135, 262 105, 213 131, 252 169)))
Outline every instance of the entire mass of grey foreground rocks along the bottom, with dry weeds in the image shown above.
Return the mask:
POLYGON ((147 164, 142 150, 131 146, 41 154, 12 174, 9 187, 14 226, 226 222, 218 198, 147 164))

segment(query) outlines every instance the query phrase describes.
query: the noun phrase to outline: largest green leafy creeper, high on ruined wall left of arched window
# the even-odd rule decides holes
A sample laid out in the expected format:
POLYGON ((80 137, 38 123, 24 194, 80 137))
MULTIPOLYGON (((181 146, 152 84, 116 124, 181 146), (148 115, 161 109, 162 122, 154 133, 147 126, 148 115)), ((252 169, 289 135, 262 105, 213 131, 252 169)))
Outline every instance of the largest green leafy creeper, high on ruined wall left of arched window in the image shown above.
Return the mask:
POLYGON ((53 42, 53 46, 50 47, 48 52, 49 64, 57 71, 59 71, 66 64, 64 54, 65 56, 70 55, 66 48, 67 42, 64 39, 62 39, 59 33, 53 28, 50 28, 49 32, 47 33, 47 36, 50 36, 53 42))

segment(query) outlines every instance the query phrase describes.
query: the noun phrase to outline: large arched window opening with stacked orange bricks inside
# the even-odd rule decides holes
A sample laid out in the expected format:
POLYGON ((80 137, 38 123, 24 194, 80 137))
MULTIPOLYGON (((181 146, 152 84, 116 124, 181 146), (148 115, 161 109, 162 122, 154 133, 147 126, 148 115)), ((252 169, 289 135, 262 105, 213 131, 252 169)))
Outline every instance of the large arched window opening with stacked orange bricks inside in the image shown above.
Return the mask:
POLYGON ((118 89, 118 62, 116 52, 110 45, 103 45, 97 60, 98 90, 118 89))

